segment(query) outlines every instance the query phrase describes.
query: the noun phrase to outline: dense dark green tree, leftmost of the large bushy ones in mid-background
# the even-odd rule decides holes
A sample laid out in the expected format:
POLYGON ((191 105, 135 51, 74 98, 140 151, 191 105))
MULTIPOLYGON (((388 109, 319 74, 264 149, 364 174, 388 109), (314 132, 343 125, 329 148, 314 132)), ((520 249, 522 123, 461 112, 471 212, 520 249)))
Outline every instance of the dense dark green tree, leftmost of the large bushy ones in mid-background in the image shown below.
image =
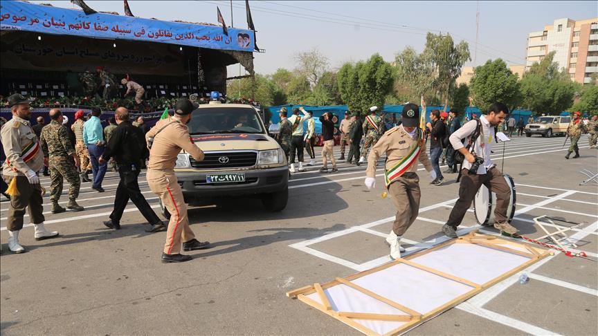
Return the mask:
POLYGON ((344 64, 337 77, 341 98, 355 111, 367 111, 372 105, 383 106, 384 98, 392 90, 392 68, 378 54, 367 62, 344 64))

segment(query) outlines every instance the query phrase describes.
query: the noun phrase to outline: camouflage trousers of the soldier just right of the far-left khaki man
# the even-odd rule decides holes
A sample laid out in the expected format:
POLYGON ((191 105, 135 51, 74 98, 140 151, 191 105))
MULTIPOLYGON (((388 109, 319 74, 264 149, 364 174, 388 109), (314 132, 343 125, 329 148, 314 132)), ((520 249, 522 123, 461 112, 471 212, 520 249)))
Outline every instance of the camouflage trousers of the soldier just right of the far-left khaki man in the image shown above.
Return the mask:
POLYGON ((49 160, 50 167, 50 200, 57 202, 62 194, 62 183, 64 179, 69 182, 69 200, 75 200, 79 197, 81 179, 75 167, 73 158, 69 156, 51 156, 49 160))

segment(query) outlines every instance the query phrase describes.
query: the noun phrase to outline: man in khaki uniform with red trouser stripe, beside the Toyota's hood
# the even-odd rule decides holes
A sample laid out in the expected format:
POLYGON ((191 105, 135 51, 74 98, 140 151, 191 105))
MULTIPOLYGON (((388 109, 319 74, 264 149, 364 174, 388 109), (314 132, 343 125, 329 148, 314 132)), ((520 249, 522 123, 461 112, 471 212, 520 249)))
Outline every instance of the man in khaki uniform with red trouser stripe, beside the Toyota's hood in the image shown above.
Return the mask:
POLYGON ((162 254, 163 263, 191 260, 191 256, 179 253, 181 241, 185 251, 199 250, 209 245, 207 241, 197 241, 189 227, 187 205, 174 174, 176 156, 181 149, 189 153, 194 160, 203 160, 203 151, 193 143, 187 128, 191 113, 197 109, 197 106, 199 106, 197 103, 192 103, 187 98, 179 99, 174 106, 174 115, 158 121, 156 126, 145 135, 149 147, 147 184, 170 212, 166 244, 162 254))

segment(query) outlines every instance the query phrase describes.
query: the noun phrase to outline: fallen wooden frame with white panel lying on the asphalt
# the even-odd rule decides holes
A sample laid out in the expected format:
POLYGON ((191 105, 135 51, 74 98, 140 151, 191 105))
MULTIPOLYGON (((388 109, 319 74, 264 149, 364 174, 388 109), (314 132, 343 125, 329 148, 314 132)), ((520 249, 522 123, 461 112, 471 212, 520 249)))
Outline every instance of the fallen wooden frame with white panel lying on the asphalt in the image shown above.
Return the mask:
POLYGON ((550 254, 474 231, 344 279, 291 290, 287 297, 367 335, 397 335, 550 254))

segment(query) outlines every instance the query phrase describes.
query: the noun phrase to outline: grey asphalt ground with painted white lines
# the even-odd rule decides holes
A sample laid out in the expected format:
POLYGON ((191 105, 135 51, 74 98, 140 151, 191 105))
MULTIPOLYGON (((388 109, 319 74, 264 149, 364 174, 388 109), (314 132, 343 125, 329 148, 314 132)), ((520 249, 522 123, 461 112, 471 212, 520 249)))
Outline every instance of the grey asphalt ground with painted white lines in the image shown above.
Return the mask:
MULTIPOLYGON (((581 158, 565 160, 564 138, 514 138, 495 145, 493 160, 516 183, 513 225, 529 237, 544 234, 532 218, 547 214, 582 223, 569 234, 577 250, 597 259, 598 185, 579 185, 581 169, 598 170, 598 151, 579 142, 581 158)), ((334 148, 338 158, 339 147, 334 148)), ((316 148, 317 162, 320 149, 316 148)), ((306 155, 307 158, 307 155, 306 155)), ((105 193, 84 183, 78 202, 84 212, 51 214, 46 226, 57 239, 35 241, 33 227, 21 230, 28 252, 11 254, 6 244, 6 200, 0 203, 0 333, 2 335, 357 335, 285 292, 346 277, 390 261, 384 236, 395 209, 381 198, 383 178, 369 192, 365 167, 341 162, 336 174, 319 166, 293 174, 289 205, 276 214, 260 201, 235 198, 189 209, 192 230, 212 243, 190 252, 192 261, 160 261, 165 233, 147 234, 144 219, 129 203, 122 230, 108 230, 118 176, 107 174, 105 193)), ((445 174, 429 185, 419 166, 419 218, 404 236, 407 254, 444 241, 440 227, 449 216, 458 184, 445 174)), ((442 170, 445 168, 442 167, 442 170)), ((42 178, 49 187, 49 179, 42 178)), ((156 196, 140 176, 156 212, 156 196)), ((65 186, 62 202, 66 203, 65 186)), ((28 223, 28 217, 25 218, 28 223)), ((471 211, 462 223, 475 225, 471 211)), ((497 234, 496 230, 484 230, 497 234)), ((411 330, 414 335, 596 335, 597 263, 549 256, 444 314, 411 330)))

